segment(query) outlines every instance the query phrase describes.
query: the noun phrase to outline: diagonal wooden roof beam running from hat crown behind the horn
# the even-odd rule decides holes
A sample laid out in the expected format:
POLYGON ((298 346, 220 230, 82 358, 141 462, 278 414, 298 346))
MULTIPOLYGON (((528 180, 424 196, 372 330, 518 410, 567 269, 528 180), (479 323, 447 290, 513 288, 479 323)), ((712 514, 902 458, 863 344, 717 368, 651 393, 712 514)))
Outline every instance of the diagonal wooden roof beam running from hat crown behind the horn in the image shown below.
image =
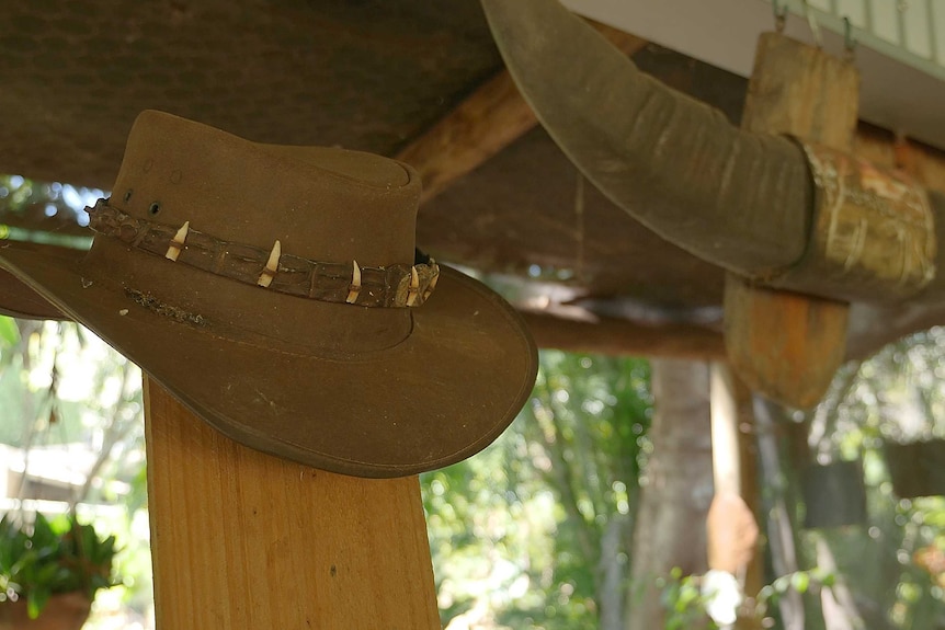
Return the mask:
MULTIPOLYGON (((604 24, 593 25, 622 51, 633 55, 647 42, 604 24)), ((538 124, 509 72, 502 70, 423 136, 397 154, 418 170, 421 205, 447 188, 538 124)))

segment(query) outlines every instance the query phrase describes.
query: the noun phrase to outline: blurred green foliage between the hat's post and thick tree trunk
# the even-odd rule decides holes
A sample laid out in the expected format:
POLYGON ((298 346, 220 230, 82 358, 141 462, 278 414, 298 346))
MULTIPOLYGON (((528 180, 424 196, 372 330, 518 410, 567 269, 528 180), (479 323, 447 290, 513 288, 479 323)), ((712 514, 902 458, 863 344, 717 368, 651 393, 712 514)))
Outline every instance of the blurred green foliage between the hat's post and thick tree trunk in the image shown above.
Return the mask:
POLYGON ((641 359, 543 352, 512 427, 421 477, 444 625, 593 630, 620 604, 649 378, 641 359))

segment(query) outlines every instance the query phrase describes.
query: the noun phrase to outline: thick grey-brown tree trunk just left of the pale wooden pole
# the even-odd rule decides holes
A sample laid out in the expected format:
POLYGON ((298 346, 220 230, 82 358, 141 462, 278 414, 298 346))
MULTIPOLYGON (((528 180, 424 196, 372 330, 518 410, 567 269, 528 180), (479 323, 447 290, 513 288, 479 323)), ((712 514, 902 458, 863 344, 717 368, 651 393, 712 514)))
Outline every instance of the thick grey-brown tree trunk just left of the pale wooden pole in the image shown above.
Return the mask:
POLYGON ((713 499, 709 368, 703 363, 652 362, 652 455, 645 473, 630 555, 626 628, 665 627, 660 577, 706 566, 705 522, 713 499))

